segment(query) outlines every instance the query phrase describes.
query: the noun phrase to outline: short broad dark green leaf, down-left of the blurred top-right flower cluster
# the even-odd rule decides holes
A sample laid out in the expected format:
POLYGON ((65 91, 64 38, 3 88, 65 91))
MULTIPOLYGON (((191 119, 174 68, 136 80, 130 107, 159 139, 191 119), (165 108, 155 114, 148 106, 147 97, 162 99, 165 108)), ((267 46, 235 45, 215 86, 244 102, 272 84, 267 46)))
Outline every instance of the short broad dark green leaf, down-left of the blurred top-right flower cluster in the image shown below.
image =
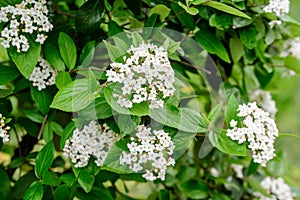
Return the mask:
POLYGON ((248 49, 253 49, 256 46, 257 31, 255 26, 247 26, 239 29, 240 39, 248 49))

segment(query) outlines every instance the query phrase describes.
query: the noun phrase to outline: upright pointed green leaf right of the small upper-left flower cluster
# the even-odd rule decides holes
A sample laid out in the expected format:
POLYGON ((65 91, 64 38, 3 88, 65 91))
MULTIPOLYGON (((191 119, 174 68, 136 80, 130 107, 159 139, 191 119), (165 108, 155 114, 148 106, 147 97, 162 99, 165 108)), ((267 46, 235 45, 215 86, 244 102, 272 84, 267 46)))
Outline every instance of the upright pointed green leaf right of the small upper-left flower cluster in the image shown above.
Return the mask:
POLYGON ((77 59, 76 46, 73 39, 66 33, 61 32, 58 38, 58 47, 63 61, 72 70, 75 67, 77 59))

